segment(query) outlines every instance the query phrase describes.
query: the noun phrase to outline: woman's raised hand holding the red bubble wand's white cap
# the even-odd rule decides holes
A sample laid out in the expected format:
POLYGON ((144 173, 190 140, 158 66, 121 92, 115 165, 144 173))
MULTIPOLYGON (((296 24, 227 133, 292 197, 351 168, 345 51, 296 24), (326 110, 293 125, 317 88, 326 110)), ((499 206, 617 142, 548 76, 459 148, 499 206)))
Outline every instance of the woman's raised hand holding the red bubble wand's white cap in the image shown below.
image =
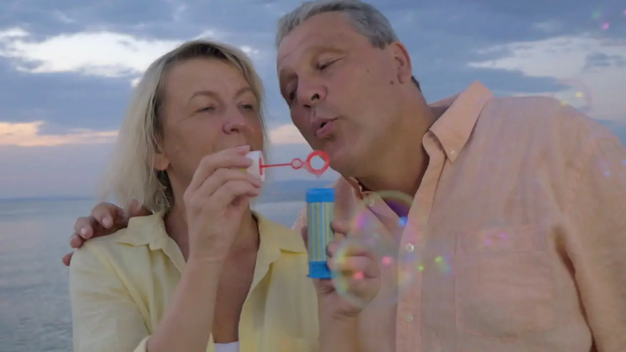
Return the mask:
POLYGON ((183 200, 189 231, 189 260, 221 262, 228 254, 249 199, 261 180, 245 172, 249 146, 228 148, 203 158, 183 200))

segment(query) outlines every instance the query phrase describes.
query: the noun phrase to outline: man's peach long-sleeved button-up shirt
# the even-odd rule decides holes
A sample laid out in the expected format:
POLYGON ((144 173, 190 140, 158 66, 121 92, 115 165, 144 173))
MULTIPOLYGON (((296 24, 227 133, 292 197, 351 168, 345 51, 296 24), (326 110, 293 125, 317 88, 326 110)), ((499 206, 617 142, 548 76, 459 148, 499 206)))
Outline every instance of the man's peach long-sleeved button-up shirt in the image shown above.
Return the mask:
MULTIPOLYGON (((422 261, 399 261, 414 277, 390 314, 396 351, 626 351, 619 140, 560 101, 479 82, 431 106, 449 108, 422 138, 429 164, 399 247, 422 261)), ((334 187, 336 219, 364 197, 386 207, 356 180, 334 187)))

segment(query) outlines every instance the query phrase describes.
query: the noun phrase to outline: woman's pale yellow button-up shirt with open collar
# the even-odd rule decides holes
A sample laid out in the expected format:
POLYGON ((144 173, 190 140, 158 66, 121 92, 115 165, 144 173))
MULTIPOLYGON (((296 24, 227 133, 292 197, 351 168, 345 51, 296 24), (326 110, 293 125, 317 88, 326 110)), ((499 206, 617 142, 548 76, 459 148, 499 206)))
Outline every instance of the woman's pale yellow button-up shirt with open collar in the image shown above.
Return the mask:
MULTIPOLYGON (((304 242, 256 215, 260 247, 240 316, 240 351, 317 351, 317 294, 304 242)), ((87 241, 69 267, 74 351, 146 351, 184 269, 159 215, 134 217, 126 229, 87 241)), ((207 351, 215 351, 213 339, 207 351)))

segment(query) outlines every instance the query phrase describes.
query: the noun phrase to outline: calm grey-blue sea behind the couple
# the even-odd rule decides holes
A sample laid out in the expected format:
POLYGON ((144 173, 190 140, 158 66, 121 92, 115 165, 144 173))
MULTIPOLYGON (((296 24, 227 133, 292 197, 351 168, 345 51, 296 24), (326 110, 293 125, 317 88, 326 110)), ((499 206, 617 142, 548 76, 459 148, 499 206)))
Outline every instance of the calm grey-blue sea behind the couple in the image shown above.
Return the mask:
MULTIPOLYGON (((0 200, 0 352, 72 351, 68 267, 76 217, 89 215, 92 199, 0 200)), ((254 206, 291 226, 303 202, 254 206)))

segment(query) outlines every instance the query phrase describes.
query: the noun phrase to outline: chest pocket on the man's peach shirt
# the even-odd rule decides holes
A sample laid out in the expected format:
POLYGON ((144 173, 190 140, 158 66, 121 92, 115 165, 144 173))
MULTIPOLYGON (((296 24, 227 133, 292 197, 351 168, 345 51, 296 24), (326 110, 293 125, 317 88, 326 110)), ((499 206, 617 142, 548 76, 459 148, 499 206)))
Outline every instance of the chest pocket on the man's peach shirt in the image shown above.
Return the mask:
POLYGON ((508 338, 554 326, 552 271, 539 226, 461 234, 455 261, 459 330, 508 338))

